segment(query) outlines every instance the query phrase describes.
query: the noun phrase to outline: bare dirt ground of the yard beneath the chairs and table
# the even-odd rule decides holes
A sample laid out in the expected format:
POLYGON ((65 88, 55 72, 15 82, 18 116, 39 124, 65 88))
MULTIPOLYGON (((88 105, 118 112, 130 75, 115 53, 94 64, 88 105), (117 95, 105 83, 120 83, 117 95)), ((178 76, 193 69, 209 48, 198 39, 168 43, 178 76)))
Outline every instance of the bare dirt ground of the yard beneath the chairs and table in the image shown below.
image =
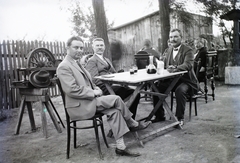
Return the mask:
MULTIPOLYGON (((32 132, 27 112, 19 135, 14 135, 18 109, 9 111, 8 118, 0 122, 0 163, 239 163, 240 162, 240 86, 227 86, 217 83, 216 100, 209 98, 206 104, 198 100, 198 116, 192 115, 188 121, 188 104, 185 113, 186 123, 182 130, 171 128, 143 140, 144 148, 134 141, 131 133, 125 141, 131 150, 138 151, 140 157, 117 156, 114 140, 107 138, 110 148, 106 148, 102 137, 101 148, 104 160, 99 159, 93 130, 78 132, 77 149, 71 144, 70 159, 66 159, 66 129, 58 133, 49 116, 48 138, 42 133, 40 108, 34 104, 37 131, 32 132)), ((65 123, 65 115, 60 97, 53 98, 55 107, 65 123)), ((151 110, 150 103, 142 99, 137 119, 146 116, 151 110)), ((193 112, 194 113, 194 112, 193 112)), ((48 114, 47 114, 48 115, 48 114)), ((169 123, 151 124, 139 132, 140 135, 154 131, 169 123)), ((108 132, 105 122, 105 132, 108 132)))

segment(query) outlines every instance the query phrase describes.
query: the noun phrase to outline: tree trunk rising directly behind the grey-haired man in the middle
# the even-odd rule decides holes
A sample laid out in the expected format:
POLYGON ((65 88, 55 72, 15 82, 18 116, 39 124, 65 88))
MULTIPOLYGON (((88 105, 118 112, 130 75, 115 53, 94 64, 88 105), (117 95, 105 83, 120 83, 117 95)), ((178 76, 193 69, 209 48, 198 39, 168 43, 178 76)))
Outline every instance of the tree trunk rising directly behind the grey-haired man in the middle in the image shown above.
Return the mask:
POLYGON ((103 0, 92 0, 92 5, 96 22, 97 37, 101 37, 104 39, 106 46, 104 56, 112 60, 110 54, 110 44, 107 35, 107 21, 104 10, 104 2, 103 0))

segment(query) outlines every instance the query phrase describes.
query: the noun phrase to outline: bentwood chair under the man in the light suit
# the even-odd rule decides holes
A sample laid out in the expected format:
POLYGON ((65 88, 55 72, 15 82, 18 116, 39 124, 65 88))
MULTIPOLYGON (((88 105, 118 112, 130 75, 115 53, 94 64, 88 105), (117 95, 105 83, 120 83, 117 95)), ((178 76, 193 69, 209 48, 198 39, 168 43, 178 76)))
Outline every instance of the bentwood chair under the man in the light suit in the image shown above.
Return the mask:
POLYGON ((82 122, 82 121, 87 121, 87 120, 76 120, 75 121, 75 120, 70 119, 70 117, 68 115, 68 112, 67 112, 67 109, 65 107, 65 95, 64 95, 64 92, 62 90, 60 80, 58 78, 56 79, 56 83, 57 83, 58 88, 61 92, 63 105, 64 105, 64 110, 65 110, 65 114, 66 114, 66 121, 67 121, 67 159, 69 158, 69 153, 70 153, 71 129, 73 129, 74 148, 77 148, 77 129, 90 129, 90 128, 93 128, 94 131, 95 131, 99 156, 100 156, 101 159, 103 159, 103 155, 102 155, 101 147, 100 147, 100 142, 99 142, 99 134, 98 134, 98 127, 99 126, 101 127, 104 142, 105 142, 107 148, 109 148, 108 143, 107 143, 107 139, 106 139, 106 136, 105 136, 105 133, 104 133, 104 127, 103 127, 103 121, 102 121, 103 114, 96 113, 92 118, 87 119, 87 120, 91 120, 93 122, 92 125, 84 126, 84 127, 77 127, 77 122, 82 122))

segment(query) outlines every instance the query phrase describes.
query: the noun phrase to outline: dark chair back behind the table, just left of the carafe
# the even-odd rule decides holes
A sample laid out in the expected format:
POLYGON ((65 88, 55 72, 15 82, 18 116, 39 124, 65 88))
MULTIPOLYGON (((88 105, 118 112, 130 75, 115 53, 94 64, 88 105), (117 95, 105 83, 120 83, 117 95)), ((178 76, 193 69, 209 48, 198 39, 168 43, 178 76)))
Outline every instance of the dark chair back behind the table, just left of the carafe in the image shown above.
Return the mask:
POLYGON ((138 69, 144 69, 149 65, 149 54, 145 51, 139 51, 134 55, 138 69))

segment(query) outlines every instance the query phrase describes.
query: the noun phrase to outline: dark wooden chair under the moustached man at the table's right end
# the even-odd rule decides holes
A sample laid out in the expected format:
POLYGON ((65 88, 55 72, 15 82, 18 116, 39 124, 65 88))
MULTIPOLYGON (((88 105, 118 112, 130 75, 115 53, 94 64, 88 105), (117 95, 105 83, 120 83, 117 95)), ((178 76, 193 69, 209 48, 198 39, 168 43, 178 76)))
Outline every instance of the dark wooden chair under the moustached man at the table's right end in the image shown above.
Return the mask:
MULTIPOLYGON (((197 62, 197 69, 196 69, 196 76, 198 77, 199 69, 201 65, 201 59, 197 62)), ((197 99, 202 97, 202 95, 198 95, 194 93, 194 91, 191 89, 188 97, 187 102, 189 102, 189 121, 191 121, 192 118, 192 103, 194 102, 194 108, 195 108, 195 116, 197 116, 197 99)), ((174 91, 171 92, 171 110, 173 110, 173 99, 176 98, 174 95, 174 91)))

